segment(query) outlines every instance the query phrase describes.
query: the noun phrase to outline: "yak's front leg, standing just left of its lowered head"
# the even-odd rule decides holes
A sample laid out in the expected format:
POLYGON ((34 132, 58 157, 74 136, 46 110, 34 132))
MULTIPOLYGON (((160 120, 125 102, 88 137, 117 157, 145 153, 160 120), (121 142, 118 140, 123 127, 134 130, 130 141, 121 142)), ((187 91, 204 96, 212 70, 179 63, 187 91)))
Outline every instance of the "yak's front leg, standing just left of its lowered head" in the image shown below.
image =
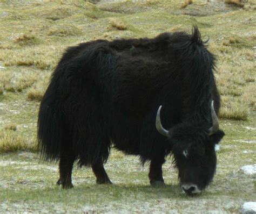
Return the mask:
POLYGON ((149 179, 152 186, 164 186, 162 165, 165 160, 151 160, 149 179))

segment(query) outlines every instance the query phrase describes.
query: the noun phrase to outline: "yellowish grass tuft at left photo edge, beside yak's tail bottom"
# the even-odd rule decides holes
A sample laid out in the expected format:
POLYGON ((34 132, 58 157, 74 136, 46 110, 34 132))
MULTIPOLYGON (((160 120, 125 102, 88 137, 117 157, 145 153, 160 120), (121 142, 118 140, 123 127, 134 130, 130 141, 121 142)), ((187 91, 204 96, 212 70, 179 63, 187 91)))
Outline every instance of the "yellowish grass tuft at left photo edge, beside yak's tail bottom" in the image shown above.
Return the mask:
POLYGON ((36 152, 37 145, 31 139, 10 130, 0 130, 0 153, 30 151, 36 152))

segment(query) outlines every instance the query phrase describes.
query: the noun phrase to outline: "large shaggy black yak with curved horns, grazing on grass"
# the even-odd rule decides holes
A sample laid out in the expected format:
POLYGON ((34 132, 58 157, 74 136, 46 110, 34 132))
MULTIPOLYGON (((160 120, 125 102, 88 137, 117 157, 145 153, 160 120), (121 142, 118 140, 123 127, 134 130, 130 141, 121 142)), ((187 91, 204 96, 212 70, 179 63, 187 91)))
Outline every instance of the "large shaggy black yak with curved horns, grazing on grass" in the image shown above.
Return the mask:
POLYGON ((213 179, 220 95, 215 58, 195 26, 156 38, 95 40, 66 49, 38 113, 42 158, 59 160, 58 184, 72 188, 73 163, 92 167, 98 184, 112 146, 150 162, 152 185, 164 185, 173 156, 181 190, 195 194, 213 179), (160 111, 161 110, 161 111, 160 111))

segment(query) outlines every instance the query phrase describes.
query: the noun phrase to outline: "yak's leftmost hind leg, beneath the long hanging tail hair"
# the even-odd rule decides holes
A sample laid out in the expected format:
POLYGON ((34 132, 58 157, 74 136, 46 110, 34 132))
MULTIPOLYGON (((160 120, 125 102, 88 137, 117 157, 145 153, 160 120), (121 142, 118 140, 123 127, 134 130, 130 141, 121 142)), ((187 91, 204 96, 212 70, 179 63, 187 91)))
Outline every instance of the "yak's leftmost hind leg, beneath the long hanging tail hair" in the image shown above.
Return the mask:
POLYGON ((62 185, 63 189, 73 188, 72 169, 75 162, 75 156, 72 154, 62 154, 59 160, 59 180, 58 185, 62 185))

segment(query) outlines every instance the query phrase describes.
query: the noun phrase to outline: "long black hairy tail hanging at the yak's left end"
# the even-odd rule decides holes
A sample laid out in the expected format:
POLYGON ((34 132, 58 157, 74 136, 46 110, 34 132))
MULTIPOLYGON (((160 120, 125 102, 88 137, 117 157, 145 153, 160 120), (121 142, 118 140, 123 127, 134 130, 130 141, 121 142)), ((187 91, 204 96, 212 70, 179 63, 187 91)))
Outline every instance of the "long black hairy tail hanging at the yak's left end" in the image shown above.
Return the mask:
POLYGON ((57 103, 55 85, 52 81, 45 92, 38 113, 38 149, 44 160, 57 161, 60 158, 60 151, 68 136, 65 133, 61 104, 57 103))

